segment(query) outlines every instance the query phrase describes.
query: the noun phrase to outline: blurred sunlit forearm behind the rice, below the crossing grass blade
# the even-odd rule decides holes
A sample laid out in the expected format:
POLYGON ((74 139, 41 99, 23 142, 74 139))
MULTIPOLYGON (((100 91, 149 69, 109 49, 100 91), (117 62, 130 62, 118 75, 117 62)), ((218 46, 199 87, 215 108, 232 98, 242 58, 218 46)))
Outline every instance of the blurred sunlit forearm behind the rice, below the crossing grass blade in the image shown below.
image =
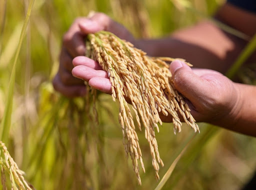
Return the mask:
POLYGON ((225 33, 212 22, 176 31, 162 39, 141 39, 138 46, 151 56, 184 58, 194 67, 225 73, 245 42, 225 33))

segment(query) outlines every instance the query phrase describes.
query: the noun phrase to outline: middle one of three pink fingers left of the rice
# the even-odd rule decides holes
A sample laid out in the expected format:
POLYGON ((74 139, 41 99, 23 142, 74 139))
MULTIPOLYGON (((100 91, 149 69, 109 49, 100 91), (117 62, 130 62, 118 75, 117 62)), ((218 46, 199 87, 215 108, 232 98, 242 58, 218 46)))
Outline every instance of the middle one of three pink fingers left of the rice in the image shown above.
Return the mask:
POLYGON ((107 72, 104 70, 95 70, 88 66, 78 65, 75 66, 72 70, 73 76, 89 81, 93 77, 108 78, 107 72))

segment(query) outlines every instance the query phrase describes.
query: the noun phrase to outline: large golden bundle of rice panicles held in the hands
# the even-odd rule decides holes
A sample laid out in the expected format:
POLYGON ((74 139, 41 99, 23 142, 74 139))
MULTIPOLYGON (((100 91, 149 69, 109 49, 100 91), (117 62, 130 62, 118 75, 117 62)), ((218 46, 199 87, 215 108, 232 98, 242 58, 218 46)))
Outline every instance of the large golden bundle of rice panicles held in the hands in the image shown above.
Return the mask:
POLYGON ((159 179, 159 164, 163 166, 155 139, 155 129, 159 132, 157 123, 162 124, 159 112, 164 115, 171 114, 174 133, 181 130, 178 113, 187 125, 195 132, 199 132, 184 97, 173 85, 169 66, 165 62, 172 61, 174 58, 147 56, 145 52, 135 48, 130 42, 107 31, 88 34, 86 49, 86 55, 97 61, 108 73, 112 84, 113 101, 117 99, 119 102, 119 123, 125 152, 131 157, 139 184, 141 180, 138 161, 144 172, 145 169, 127 98, 130 99, 135 112, 139 130, 141 130, 140 123, 143 123, 155 177, 159 179))

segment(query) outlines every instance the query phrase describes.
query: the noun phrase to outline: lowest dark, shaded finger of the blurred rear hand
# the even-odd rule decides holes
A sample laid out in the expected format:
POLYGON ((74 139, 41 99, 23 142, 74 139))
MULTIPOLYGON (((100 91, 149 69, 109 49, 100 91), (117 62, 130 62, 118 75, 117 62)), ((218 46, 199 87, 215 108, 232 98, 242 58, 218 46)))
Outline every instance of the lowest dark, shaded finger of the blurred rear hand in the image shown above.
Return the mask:
POLYGON ((59 91, 66 97, 83 96, 86 94, 85 85, 66 86, 61 82, 58 74, 54 77, 52 84, 56 91, 59 91))

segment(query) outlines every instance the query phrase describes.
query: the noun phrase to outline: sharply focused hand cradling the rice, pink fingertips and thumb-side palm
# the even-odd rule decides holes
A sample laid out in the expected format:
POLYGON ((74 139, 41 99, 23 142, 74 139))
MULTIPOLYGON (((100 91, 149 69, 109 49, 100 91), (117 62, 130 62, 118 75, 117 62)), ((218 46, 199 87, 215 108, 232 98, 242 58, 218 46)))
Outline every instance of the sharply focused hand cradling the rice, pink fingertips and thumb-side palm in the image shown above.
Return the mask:
MULTIPOLYGON (((87 57, 73 59, 72 74, 100 91, 110 94, 111 84, 107 73, 99 64, 87 57)), ((179 60, 170 64, 174 86, 186 99, 196 121, 223 125, 225 119, 234 118, 238 92, 231 80, 209 69, 191 69, 179 60)), ((162 121, 171 122, 170 115, 161 115, 162 121)))

